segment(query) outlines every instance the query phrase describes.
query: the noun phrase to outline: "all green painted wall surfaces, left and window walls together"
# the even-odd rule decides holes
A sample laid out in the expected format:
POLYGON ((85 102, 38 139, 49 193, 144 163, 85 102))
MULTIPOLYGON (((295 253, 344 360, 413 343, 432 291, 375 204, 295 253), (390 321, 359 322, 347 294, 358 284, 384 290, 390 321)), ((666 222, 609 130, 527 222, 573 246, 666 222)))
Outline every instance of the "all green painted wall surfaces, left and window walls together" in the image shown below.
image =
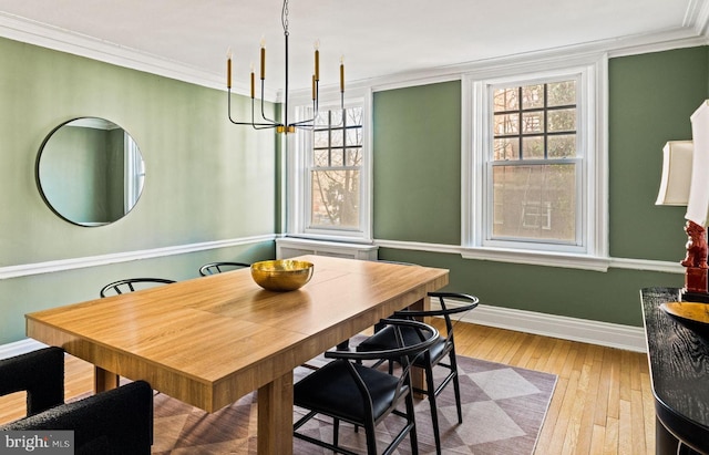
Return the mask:
MULTIPOLYGON (((178 247, 280 231, 280 138, 230 125, 224 92, 0 39, 0 267, 178 247), (137 142, 146 183, 105 227, 55 216, 34 183, 45 135, 79 116, 114 121, 137 142)), ((708 97, 707 48, 609 62, 609 239, 616 258, 678 261, 684 210, 654 205, 661 148, 691 137, 708 97)), ((460 245, 461 86, 381 91, 373 100, 374 238, 460 245)), ((234 105, 243 117, 249 105, 234 105)), ((274 108, 274 106, 271 106, 274 108)), ((24 337, 24 313, 97 297, 129 276, 194 278, 217 259, 274 256, 273 241, 0 279, 0 343, 24 337)), ((483 303, 640 325, 638 290, 679 273, 608 272, 381 248, 383 259, 451 269, 450 289, 483 303)))

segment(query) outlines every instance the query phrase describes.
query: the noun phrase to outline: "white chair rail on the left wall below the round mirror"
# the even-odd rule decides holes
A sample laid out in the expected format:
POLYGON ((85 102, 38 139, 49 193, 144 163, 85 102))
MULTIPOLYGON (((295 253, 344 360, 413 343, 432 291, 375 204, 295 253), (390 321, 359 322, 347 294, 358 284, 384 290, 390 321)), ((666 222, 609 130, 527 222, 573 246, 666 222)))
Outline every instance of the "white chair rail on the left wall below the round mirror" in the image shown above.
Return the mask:
POLYGON ((133 260, 160 258, 164 256, 184 255, 209 249, 229 248, 242 245, 251 245, 263 241, 273 241, 275 235, 242 237, 227 240, 204 241, 199 244, 177 245, 164 248, 153 248, 137 251, 114 252, 110 255, 88 256, 83 258, 70 258, 51 260, 45 262, 23 263, 20 266, 0 267, 0 280, 9 278, 27 277, 31 275, 50 273, 82 269, 86 267, 106 266, 110 263, 129 262, 133 260))

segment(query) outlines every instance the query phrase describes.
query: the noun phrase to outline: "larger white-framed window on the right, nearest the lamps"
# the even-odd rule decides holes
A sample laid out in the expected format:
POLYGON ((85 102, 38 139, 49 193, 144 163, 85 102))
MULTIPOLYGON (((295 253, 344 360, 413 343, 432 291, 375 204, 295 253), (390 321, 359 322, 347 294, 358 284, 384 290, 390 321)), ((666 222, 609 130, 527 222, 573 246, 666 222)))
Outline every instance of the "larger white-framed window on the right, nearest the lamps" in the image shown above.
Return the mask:
POLYGON ((607 267, 605 56, 566 60, 463 79, 464 257, 607 267))

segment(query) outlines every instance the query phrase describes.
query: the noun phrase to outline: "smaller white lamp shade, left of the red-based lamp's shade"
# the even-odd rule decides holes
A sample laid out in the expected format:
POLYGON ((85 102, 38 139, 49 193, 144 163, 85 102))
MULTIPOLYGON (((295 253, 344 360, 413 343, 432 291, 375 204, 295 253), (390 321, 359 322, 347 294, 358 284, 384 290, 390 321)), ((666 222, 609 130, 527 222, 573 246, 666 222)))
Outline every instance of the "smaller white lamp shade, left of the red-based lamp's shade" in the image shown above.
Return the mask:
POLYGON ((670 141, 662 148, 662 180, 656 205, 686 206, 691 179, 691 141, 670 141))

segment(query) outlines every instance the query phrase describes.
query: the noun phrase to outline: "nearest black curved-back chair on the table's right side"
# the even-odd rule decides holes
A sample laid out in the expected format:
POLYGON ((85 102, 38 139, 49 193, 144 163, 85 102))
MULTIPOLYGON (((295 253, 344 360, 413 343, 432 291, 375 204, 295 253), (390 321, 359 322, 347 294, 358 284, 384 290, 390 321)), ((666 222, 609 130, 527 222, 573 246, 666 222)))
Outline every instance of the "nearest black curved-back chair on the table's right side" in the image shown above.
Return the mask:
POLYGON ((394 337, 394 347, 372 352, 328 351, 326 359, 333 359, 325 366, 314 371, 294 385, 294 403, 307 410, 294 425, 294 436, 315 445, 343 454, 353 452, 339 445, 340 421, 356 427, 363 427, 367 440, 367 453, 374 455, 377 437, 374 427, 387 416, 397 415, 405 421, 401 431, 383 453, 390 454, 409 435, 411 451, 418 454, 418 437, 413 411, 411 362, 428 350, 439 338, 435 328, 419 321, 383 320, 386 330, 394 337), (417 342, 405 343, 403 330, 414 333, 417 342), (397 374, 366 365, 367 361, 389 359, 401 363, 397 374), (405 403, 405 411, 397 409, 405 403), (311 435, 298 432, 302 425, 316 415, 327 415, 333 420, 332 444, 311 435))

